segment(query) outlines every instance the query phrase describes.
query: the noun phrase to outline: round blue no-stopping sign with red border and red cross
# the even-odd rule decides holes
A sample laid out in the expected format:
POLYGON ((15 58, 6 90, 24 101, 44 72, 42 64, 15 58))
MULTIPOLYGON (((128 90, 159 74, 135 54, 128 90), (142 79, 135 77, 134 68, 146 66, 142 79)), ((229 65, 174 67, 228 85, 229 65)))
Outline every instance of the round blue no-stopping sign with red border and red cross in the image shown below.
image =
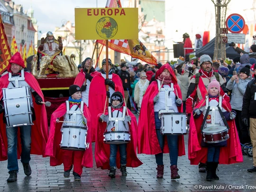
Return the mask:
POLYGON ((226 27, 231 33, 240 33, 245 27, 245 19, 237 14, 231 14, 226 19, 226 27))

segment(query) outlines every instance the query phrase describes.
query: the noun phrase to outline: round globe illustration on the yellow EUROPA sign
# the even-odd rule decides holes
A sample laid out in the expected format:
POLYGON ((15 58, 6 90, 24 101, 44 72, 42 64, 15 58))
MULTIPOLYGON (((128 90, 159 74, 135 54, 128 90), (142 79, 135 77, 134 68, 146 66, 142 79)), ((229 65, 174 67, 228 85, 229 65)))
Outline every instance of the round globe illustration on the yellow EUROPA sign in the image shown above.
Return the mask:
POLYGON ((110 39, 117 34, 118 24, 113 18, 100 18, 96 23, 96 31, 101 38, 110 39))

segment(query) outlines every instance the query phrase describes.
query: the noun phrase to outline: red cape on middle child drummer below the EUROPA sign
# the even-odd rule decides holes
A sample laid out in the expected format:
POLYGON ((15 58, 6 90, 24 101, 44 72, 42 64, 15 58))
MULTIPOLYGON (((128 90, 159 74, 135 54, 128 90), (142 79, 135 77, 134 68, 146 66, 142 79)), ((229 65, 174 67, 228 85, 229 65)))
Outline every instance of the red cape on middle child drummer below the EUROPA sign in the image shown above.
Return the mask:
MULTIPOLYGON (((102 114, 102 113, 101 113, 102 114)), ((106 122, 100 122, 100 116, 98 115, 98 126, 95 142, 95 161, 97 167, 101 169, 110 169, 110 144, 105 144, 103 142, 103 133, 107 127, 106 122)), ((127 144, 127 164, 128 167, 138 167, 143 163, 137 158, 137 119, 134 114, 128 110, 129 116, 131 116, 131 125, 129 126, 131 134, 131 142, 127 144)), ((105 115, 108 115, 106 110, 105 115)), ((117 167, 120 168, 120 155, 117 154, 117 167)))

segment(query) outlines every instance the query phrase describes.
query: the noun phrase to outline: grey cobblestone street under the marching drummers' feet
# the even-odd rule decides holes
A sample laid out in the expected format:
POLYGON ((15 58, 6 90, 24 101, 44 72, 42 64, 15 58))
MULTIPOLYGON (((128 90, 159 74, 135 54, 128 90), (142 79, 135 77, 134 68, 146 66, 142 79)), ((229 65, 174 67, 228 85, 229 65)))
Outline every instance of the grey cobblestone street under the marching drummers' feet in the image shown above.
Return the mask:
MULTIPOLYGON (((185 136, 185 141, 188 136, 185 136)), ((94 144, 93 144, 94 147, 94 144)), ((187 149, 187 142, 186 142, 187 149)), ((205 173, 199 173, 198 167, 190 165, 188 156, 178 159, 180 179, 171 181, 169 155, 164 155, 165 174, 163 179, 156 179, 154 155, 138 155, 144 163, 137 168, 128 167, 128 176, 121 176, 119 170, 115 179, 108 176, 108 170, 84 168, 82 181, 75 182, 72 172, 70 178, 63 177, 63 165, 51 167, 49 157, 32 155, 31 176, 20 171, 16 183, 7 183, 9 177, 7 161, 0 162, 0 191, 3 192, 190 192, 190 191, 256 191, 256 174, 248 173, 252 166, 252 157, 244 155, 244 162, 236 165, 220 165, 217 173, 220 180, 206 182, 205 173), (208 187, 208 188, 207 188, 208 187), (240 187, 242 189, 235 189, 240 187), (252 188, 251 188, 252 187, 252 188), (233 188, 233 189, 232 189, 233 188), (250 189, 251 188, 251 189, 250 189)))

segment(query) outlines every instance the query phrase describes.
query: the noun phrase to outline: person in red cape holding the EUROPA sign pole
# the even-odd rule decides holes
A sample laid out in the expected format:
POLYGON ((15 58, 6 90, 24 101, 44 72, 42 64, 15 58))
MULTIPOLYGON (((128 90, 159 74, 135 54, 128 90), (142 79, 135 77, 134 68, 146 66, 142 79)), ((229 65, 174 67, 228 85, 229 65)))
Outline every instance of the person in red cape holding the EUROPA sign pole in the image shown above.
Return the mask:
MULTIPOLYGON (((97 116, 104 111, 105 103, 110 103, 110 97, 115 91, 119 91, 124 95, 122 81, 117 74, 113 74, 111 70, 112 62, 108 60, 109 78, 106 78, 106 59, 102 60, 101 73, 95 75, 91 81, 89 92, 89 106, 91 112, 91 128, 92 128, 92 142, 95 141, 95 131, 98 123, 97 116), (109 90, 106 90, 106 85, 109 85, 109 90), (108 96, 108 100, 106 100, 108 96)), ((109 104, 110 105, 110 104, 109 104)), ((108 106, 108 105, 106 105, 108 106)))

